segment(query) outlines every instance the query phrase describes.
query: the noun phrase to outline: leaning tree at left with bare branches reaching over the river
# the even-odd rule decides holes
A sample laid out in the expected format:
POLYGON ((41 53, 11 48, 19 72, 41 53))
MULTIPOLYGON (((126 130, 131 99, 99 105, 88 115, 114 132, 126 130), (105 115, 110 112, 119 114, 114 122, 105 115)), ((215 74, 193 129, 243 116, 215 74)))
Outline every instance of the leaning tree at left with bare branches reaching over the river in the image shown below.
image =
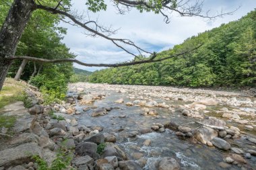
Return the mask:
MULTIPOLYGON (((207 17, 209 19, 213 19, 220 15, 230 14, 221 13, 220 15, 209 16, 206 13, 206 15, 203 15, 201 13, 202 3, 196 1, 194 4, 191 4, 192 2, 193 1, 190 0, 186 1, 185 3, 183 0, 115 0, 114 4, 117 7, 119 13, 125 13, 125 8, 128 10, 129 8, 136 8, 141 12, 154 11, 155 13, 161 13, 164 16, 166 23, 169 22, 168 13, 172 11, 179 13, 181 16, 199 16, 207 17)), ((93 12, 106 10, 106 3, 104 0, 88 0, 86 5, 88 5, 88 9, 93 12)), ((85 21, 83 16, 72 13, 69 7, 70 0, 52 1, 51 3, 45 3, 43 0, 13 0, 5 22, 3 23, 3 26, 0 30, 0 90, 3 86, 3 82, 9 67, 11 66, 12 61, 15 59, 34 60, 38 62, 77 62, 80 65, 91 67, 119 67, 124 65, 136 65, 144 62, 160 61, 159 59, 156 59, 157 55, 155 53, 147 52, 146 50, 139 48, 139 46, 137 46, 131 40, 112 38, 111 35, 115 33, 115 30, 110 30, 109 28, 100 26, 97 22, 92 20, 85 21), (146 52, 148 54, 152 54, 152 56, 147 60, 139 60, 113 65, 88 64, 73 58, 46 60, 32 56, 15 56, 15 51, 22 33, 24 32, 24 29, 26 28, 32 13, 37 10, 47 11, 53 15, 59 15, 60 17, 63 17, 63 19, 64 17, 69 18, 73 25, 84 28, 89 32, 91 36, 100 36, 105 38, 106 40, 113 42, 117 47, 125 50, 125 52, 128 54, 135 56, 135 58, 137 58, 137 55, 133 54, 133 52, 130 50, 127 50, 125 45, 135 48, 137 51, 139 51, 140 54, 141 52, 146 52)))

